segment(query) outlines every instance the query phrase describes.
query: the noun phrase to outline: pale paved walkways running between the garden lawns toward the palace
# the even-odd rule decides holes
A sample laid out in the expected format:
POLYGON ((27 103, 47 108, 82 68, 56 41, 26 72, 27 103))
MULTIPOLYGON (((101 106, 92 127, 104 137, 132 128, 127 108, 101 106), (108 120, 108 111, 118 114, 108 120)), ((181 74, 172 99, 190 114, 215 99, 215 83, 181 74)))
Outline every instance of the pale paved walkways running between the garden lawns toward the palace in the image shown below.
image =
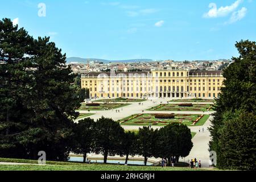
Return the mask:
MULTIPOLYGON (((130 102, 128 106, 120 107, 117 110, 120 111, 120 113, 116 113, 115 109, 112 110, 104 110, 104 111, 90 111, 89 113, 94 113, 94 115, 90 115, 90 118, 97 120, 101 118, 102 116, 112 118, 115 121, 119 119, 123 119, 126 117, 129 117, 133 114, 141 114, 141 113, 174 113, 174 114, 213 114, 213 111, 147 111, 147 109, 150 109, 151 107, 157 106, 161 104, 167 104, 167 101, 170 101, 170 99, 157 99, 157 100, 147 100, 144 102, 141 102, 143 105, 139 105, 138 102, 130 102), (156 102, 155 104, 153 102, 156 102)), ((179 102, 169 102, 169 104, 179 104, 179 102)), ((195 104, 212 104, 212 103, 195 103, 195 104)), ((80 111, 80 113, 88 113, 88 111, 80 111)), ((191 129, 191 132, 195 132, 196 135, 192 139, 193 142, 193 148, 185 159, 180 159, 181 162, 189 162, 191 159, 196 158, 197 160, 201 160, 202 167, 209 167, 209 151, 208 151, 208 144, 210 141, 210 133, 208 131, 208 127, 210 126, 210 119, 212 119, 212 116, 205 122, 204 126, 189 126, 189 129, 191 129), (204 128, 204 133, 202 132, 202 129, 204 128), (201 132, 199 133, 199 129, 201 132)), ((79 121, 81 119, 77 119, 79 121)), ((126 130, 135 130, 139 129, 143 126, 122 126, 126 130)), ((152 128, 159 128, 158 126, 152 126, 152 128)))

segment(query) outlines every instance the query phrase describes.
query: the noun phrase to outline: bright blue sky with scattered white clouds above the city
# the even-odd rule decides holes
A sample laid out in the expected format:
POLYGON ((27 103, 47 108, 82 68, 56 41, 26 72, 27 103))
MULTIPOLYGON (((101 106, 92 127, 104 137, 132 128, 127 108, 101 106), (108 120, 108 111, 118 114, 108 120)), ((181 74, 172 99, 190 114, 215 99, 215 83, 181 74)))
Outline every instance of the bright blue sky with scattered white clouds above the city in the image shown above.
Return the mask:
POLYGON ((236 41, 256 40, 256 0, 9 0, 0 9, 35 38, 51 36, 67 57, 230 59, 236 41))

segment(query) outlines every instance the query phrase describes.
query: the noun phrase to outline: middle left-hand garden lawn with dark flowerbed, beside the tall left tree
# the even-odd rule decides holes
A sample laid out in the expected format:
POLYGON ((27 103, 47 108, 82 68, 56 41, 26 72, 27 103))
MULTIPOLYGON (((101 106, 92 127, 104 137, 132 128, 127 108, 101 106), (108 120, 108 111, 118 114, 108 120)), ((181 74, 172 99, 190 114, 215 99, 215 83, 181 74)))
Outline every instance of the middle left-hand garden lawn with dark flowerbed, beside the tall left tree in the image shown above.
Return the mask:
POLYGON ((128 106, 130 104, 121 104, 121 103, 109 103, 105 104, 102 103, 100 106, 86 106, 86 104, 82 104, 82 106, 79 108, 79 110, 112 110, 112 109, 118 109, 119 107, 128 106))

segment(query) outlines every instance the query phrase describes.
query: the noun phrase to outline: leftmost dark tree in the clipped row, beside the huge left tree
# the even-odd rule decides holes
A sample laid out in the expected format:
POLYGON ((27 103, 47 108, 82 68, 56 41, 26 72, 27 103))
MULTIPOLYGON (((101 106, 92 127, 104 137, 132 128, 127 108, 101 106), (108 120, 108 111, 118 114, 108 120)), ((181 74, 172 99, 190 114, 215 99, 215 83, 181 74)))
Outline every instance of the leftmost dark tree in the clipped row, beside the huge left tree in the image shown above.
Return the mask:
POLYGON ((72 151, 75 154, 82 154, 84 157, 84 163, 86 161, 86 154, 93 151, 94 127, 94 120, 85 118, 75 124, 73 129, 75 134, 73 138, 72 151))

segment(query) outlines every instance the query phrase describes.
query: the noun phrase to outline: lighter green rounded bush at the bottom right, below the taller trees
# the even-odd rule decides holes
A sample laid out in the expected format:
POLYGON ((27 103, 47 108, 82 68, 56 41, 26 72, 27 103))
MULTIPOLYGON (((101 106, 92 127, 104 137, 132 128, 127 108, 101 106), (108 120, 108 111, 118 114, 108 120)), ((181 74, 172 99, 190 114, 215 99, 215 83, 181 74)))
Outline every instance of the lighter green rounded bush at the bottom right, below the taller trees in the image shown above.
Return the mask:
POLYGON ((219 131, 222 168, 256 170, 256 116, 253 113, 226 113, 219 131), (237 117, 238 115, 238 117, 237 117))

